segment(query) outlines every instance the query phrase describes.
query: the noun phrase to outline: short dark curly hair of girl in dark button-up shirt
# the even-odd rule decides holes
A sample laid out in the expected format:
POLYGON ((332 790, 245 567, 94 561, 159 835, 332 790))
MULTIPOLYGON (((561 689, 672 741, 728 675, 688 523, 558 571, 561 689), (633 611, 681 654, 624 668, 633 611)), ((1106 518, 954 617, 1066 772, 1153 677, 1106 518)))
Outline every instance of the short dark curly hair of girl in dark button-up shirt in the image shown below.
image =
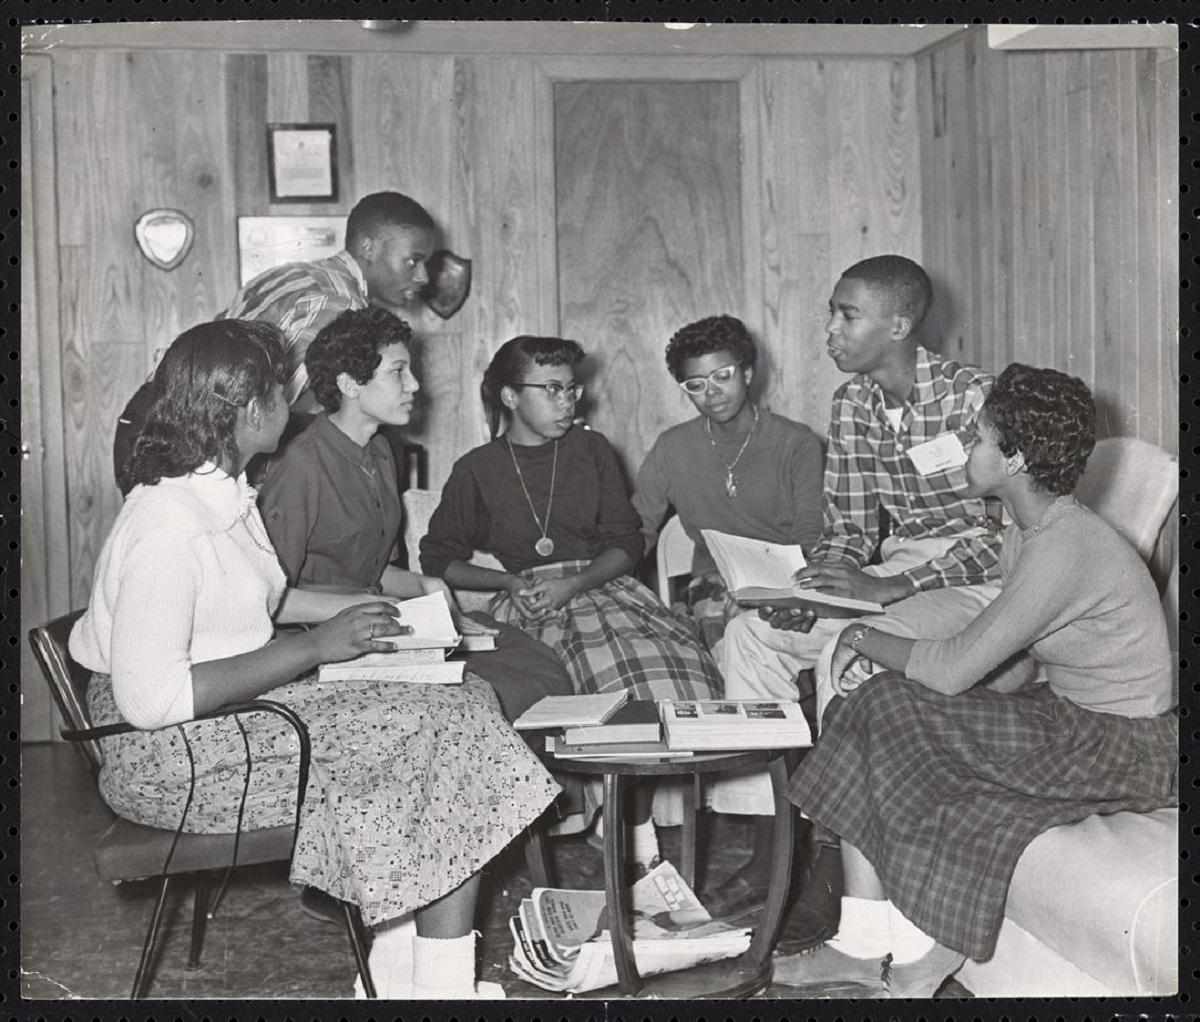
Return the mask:
POLYGON ((322 408, 337 411, 342 407, 338 375, 349 373, 356 383, 370 381, 383 361, 383 349, 396 343, 412 351, 412 327, 400 317, 376 306, 343 312, 322 327, 304 356, 308 385, 322 408))

